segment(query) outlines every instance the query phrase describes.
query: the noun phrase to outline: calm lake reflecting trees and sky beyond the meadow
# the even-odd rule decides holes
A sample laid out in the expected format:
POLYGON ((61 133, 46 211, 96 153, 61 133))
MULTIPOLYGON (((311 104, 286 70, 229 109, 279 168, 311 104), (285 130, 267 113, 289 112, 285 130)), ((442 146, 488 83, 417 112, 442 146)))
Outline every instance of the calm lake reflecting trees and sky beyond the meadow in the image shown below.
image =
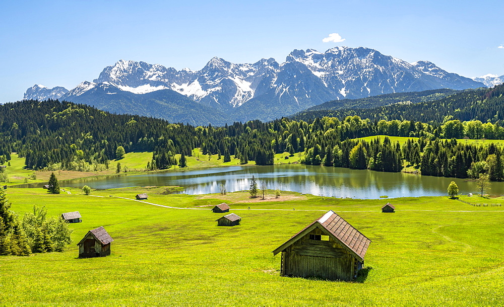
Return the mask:
MULTIPOLYGON (((136 176, 110 176, 67 180, 62 181, 60 186, 82 188, 82 186, 88 185, 94 189, 181 186, 185 188, 181 193, 207 194, 219 193, 221 184, 226 186, 228 192, 248 190, 252 175, 256 177, 259 187, 264 183, 267 189, 279 188, 284 191, 335 197, 375 199, 381 195, 388 195, 391 198, 447 195, 447 188, 451 181, 457 183, 460 193, 477 193, 476 184, 464 179, 302 164, 233 166, 136 176)), ((492 182, 490 194, 504 194, 504 183, 492 182)))

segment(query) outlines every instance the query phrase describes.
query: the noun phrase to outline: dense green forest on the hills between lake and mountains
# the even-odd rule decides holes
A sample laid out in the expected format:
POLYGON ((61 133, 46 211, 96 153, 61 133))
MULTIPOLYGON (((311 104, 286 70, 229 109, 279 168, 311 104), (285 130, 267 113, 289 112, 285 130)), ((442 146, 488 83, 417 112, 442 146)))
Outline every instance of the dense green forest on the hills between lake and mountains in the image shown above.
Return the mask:
POLYGON ((444 94, 428 102, 317 110, 223 127, 25 100, 0 106, 0 163, 17 152, 34 170, 96 171, 113 167, 109 161, 122 146, 125 152, 152 151, 148 169, 155 170, 177 165, 176 154, 191 156, 200 147, 204 154, 223 155, 224 162, 234 155, 243 163, 272 165, 275 154, 304 152, 302 163, 309 165, 400 172, 406 162, 424 175, 466 178, 483 170, 492 180, 504 180, 500 147, 456 140, 504 139, 504 86, 444 94), (412 139, 357 139, 374 135, 412 139))

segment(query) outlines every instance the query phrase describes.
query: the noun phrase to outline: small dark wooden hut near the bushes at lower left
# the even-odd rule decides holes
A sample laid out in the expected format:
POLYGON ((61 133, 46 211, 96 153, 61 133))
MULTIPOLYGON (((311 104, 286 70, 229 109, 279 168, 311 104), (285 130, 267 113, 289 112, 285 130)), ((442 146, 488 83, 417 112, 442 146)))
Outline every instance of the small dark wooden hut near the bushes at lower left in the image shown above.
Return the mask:
POLYGON ((110 243, 114 239, 110 237, 103 226, 90 230, 79 246, 79 258, 104 257, 110 255, 110 243))

